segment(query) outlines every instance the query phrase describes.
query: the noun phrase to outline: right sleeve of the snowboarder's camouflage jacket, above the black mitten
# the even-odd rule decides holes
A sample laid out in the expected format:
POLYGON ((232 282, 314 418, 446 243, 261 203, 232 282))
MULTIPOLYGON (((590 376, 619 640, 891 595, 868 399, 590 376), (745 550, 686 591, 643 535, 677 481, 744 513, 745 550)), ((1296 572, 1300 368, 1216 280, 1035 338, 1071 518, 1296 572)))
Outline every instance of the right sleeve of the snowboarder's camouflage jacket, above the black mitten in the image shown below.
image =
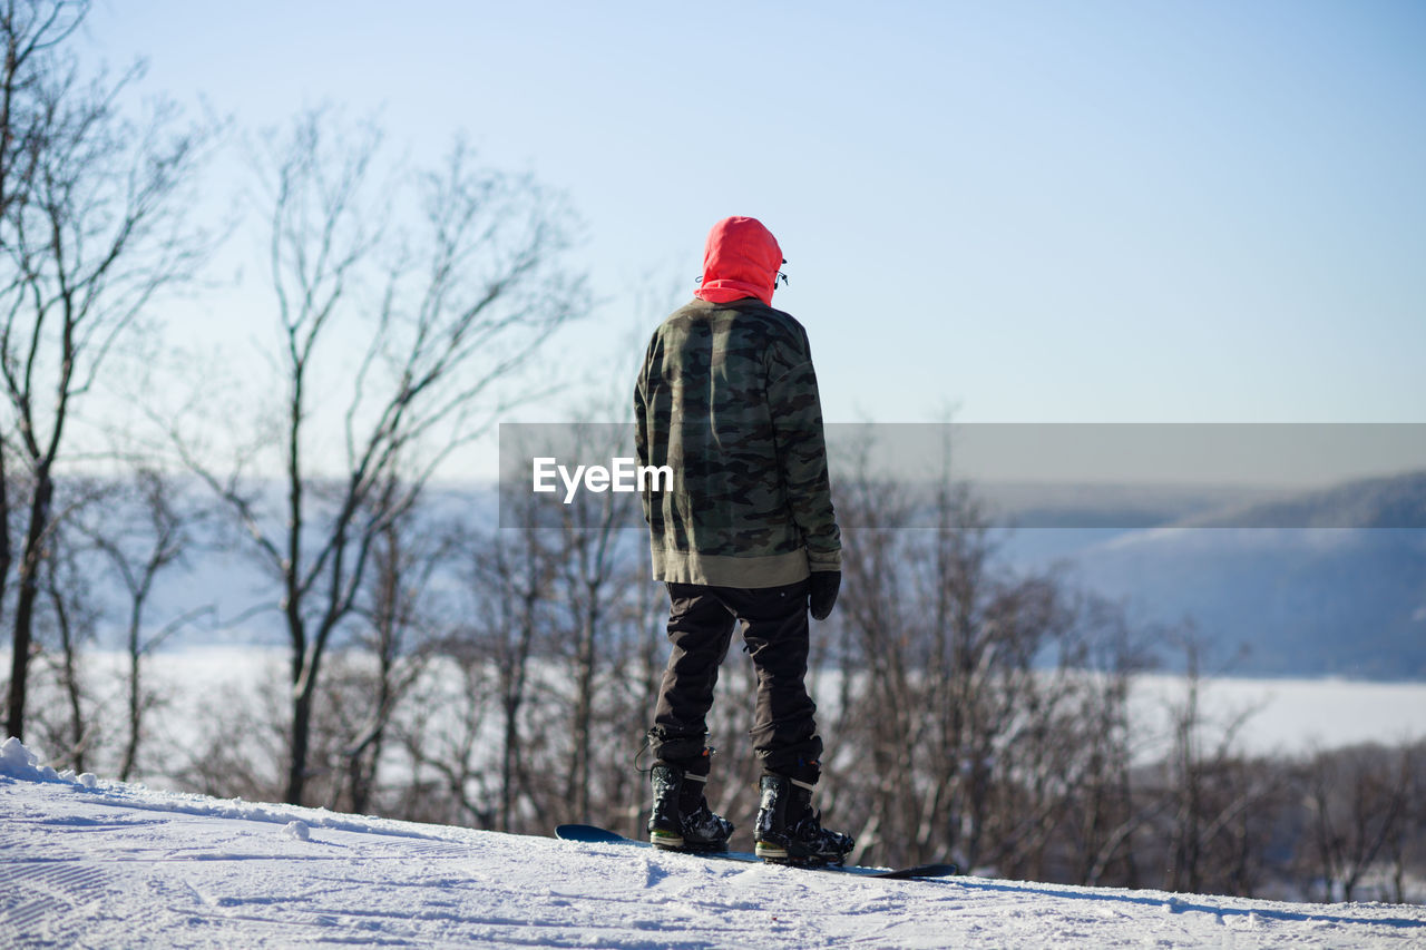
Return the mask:
POLYGON ((840 571, 841 533, 831 506, 817 374, 806 338, 799 344, 780 347, 769 371, 767 405, 777 441, 779 474, 793 522, 807 546, 807 566, 840 571))

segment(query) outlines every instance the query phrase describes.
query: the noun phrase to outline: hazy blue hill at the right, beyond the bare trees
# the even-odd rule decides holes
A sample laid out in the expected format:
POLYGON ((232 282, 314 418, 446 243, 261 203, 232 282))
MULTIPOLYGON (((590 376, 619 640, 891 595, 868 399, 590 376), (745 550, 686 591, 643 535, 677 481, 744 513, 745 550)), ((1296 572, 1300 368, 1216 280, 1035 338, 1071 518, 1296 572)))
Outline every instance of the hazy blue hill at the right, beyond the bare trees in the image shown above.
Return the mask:
POLYGON ((1191 618, 1218 662, 1246 648, 1233 675, 1426 679, 1426 474, 1178 505, 1158 525, 1125 511, 1145 526, 1021 529, 1010 555, 1057 559, 1141 619, 1191 618))

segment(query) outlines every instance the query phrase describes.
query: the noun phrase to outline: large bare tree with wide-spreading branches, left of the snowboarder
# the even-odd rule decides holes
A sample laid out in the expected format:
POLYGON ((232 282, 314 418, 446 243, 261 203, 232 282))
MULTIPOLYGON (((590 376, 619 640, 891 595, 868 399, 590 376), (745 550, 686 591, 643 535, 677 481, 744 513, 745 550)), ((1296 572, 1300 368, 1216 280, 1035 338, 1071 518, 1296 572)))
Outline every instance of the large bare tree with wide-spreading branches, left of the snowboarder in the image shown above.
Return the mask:
POLYGON ((530 181, 472 168, 461 145, 411 183, 378 180, 379 158, 372 126, 345 133, 317 111, 270 137, 257 160, 285 389, 271 444, 278 511, 238 468, 220 474, 183 448, 281 588, 288 802, 304 796, 322 660, 351 626, 379 539, 508 405, 496 384, 583 295, 560 270, 566 214, 530 181), (391 201, 406 184, 424 211, 411 234, 391 201), (317 425, 334 409, 334 427, 317 425))

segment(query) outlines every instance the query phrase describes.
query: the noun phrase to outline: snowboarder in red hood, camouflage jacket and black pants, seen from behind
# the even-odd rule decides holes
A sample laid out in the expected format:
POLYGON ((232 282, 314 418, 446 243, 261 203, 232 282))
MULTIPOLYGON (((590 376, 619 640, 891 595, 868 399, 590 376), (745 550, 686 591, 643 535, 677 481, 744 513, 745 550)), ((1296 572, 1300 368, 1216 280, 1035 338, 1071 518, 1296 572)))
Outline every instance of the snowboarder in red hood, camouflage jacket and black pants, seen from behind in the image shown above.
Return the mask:
POLYGON ((742 620, 757 669, 757 854, 841 863, 851 837, 811 807, 821 739, 804 685, 809 603, 819 620, 831 612, 841 541, 807 332, 771 307, 783 264, 760 221, 714 224, 694 300, 655 331, 635 388, 639 464, 673 469, 672 491, 643 496, 673 643, 649 730, 649 837, 723 850, 733 832, 703 796, 704 717, 742 620))

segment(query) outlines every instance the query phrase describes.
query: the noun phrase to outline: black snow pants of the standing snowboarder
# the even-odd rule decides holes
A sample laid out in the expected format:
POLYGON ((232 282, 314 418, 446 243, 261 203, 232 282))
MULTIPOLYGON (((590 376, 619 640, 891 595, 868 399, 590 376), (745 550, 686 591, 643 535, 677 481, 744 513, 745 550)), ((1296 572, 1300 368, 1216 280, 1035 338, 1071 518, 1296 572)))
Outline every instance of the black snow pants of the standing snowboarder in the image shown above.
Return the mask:
POLYGON ((764 772, 800 782, 819 779, 821 739, 817 706, 807 695, 807 582, 780 588, 669 586, 669 640, 649 733, 653 755, 694 775, 707 775, 706 716, 719 666, 737 620, 757 672, 753 750, 764 772))

